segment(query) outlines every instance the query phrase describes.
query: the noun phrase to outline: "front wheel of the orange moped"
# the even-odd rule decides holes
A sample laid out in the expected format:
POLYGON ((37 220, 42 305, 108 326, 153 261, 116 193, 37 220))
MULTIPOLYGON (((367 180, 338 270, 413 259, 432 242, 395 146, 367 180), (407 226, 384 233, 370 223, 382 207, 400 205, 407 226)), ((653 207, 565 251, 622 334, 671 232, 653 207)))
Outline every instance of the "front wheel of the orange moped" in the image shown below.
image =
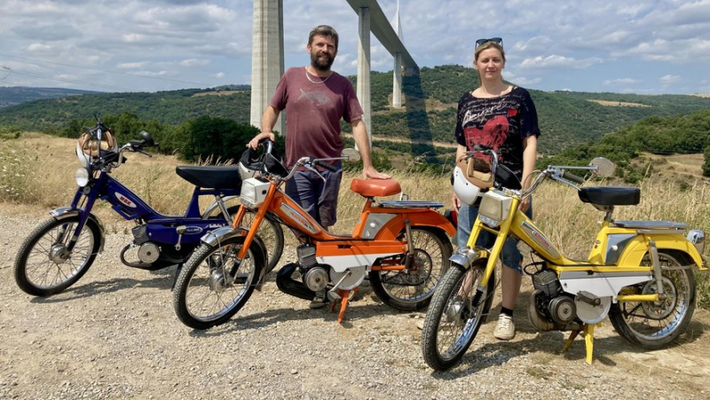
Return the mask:
POLYGON ((221 247, 201 244, 183 266, 173 294, 177 318, 194 329, 224 324, 246 304, 264 269, 264 248, 255 239, 242 260, 233 284, 225 274, 241 249, 243 237, 221 242, 221 247))

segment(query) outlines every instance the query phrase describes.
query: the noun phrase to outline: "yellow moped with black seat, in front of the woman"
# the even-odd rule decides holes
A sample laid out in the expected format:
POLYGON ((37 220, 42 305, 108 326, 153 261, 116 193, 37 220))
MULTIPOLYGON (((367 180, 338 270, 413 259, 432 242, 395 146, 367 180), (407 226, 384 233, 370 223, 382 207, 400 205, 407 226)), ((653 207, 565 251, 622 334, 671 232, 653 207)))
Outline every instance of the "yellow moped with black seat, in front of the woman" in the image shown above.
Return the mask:
MULTIPOLYGON (((510 173, 492 156, 496 176, 510 173)), ((528 316, 539 331, 569 331, 564 349, 581 332, 586 359, 592 362, 594 327, 608 315, 611 325, 627 341, 658 349, 680 335, 695 309, 693 268, 707 270, 703 256, 705 232, 686 235, 686 224, 667 221, 615 221, 614 207, 639 203, 640 190, 623 186, 580 187, 585 179, 575 173, 611 176, 615 166, 596 158, 587 167, 549 166, 529 189, 497 187, 483 194, 468 246, 450 258, 451 267, 431 299, 422 330, 422 353, 435 370, 456 365, 476 338, 493 302, 495 264, 509 236, 518 239, 521 253, 541 259, 525 267, 533 279, 528 316), (580 200, 604 211, 588 260, 572 260, 560 253, 544 233, 518 210, 518 204, 548 179, 579 191, 580 200), (476 247, 478 235, 496 235, 491 248, 476 247)))

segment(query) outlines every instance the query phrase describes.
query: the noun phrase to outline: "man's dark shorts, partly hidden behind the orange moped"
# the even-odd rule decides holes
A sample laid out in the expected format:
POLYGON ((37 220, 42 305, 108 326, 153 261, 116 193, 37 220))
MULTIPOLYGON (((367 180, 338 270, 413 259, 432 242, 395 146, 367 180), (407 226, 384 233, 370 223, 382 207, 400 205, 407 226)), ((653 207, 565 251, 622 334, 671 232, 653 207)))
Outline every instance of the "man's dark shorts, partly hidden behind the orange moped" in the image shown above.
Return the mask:
POLYGON ((343 179, 343 169, 336 172, 320 171, 323 182, 315 172, 296 171, 286 182, 286 194, 295 200, 320 226, 327 228, 337 221, 338 192, 343 179))

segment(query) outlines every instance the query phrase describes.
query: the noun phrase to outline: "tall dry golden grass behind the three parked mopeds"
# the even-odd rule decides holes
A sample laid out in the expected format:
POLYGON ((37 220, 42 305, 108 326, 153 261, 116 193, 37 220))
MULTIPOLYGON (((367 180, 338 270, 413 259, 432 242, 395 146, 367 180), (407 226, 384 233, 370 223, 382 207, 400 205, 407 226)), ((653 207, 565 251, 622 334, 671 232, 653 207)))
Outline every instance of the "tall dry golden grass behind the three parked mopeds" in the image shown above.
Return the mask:
MULTIPOLYGON (((75 141, 24 133, 17 140, 0 142, 0 202, 36 204, 42 208, 67 206, 75 192, 74 172, 78 161, 75 141)), ((185 212, 193 187, 175 174, 182 164, 176 157, 129 154, 129 160, 114 170, 114 177, 137 192, 156 210, 169 215, 185 212)), ((659 168, 657 168, 659 170, 659 168)), ((451 185, 445 175, 423 175, 409 169, 389 171, 411 200, 441 201, 451 208, 451 185)), ((679 183, 673 170, 651 176, 641 185, 642 201, 637 207, 619 207, 614 217, 619 220, 669 220, 687 223, 690 229, 710 232, 710 182, 706 178, 688 176, 679 183)), ((350 191, 350 182, 359 173, 343 178, 335 232, 347 233, 359 220, 364 200, 350 191)), ((610 183, 595 183, 604 185, 610 183)), ((393 196, 397 198, 397 196, 393 196)), ((208 198, 202 202, 209 203, 208 198)), ((106 222, 120 224, 106 203, 96 208, 106 222)), ((562 184, 544 184, 533 200, 536 223, 564 254, 586 259, 603 213, 580 202, 577 193, 562 184)), ((120 226, 120 225, 119 225, 120 226)), ((710 247, 710 246, 709 246, 710 247)), ((706 254, 709 251, 706 250, 706 254)), ((705 275, 698 284, 710 292, 705 275)), ((700 297, 710 304, 710 296, 700 297)))

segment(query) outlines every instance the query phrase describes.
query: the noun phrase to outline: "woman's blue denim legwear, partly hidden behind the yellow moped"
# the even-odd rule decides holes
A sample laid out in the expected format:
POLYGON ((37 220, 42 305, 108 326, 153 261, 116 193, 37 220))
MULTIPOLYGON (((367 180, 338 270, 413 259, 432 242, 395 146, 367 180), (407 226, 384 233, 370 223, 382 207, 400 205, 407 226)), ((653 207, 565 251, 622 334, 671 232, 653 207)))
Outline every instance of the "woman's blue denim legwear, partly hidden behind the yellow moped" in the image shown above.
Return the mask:
MULTIPOLYGON (((532 218, 533 217, 533 201, 530 202, 530 207, 527 208, 525 215, 532 218)), ((476 222, 478 216, 478 206, 467 206, 466 204, 461 204, 459 208, 459 224, 456 230, 456 241, 458 242, 459 248, 466 247, 466 243, 469 241, 469 236, 471 235, 471 228, 473 223, 476 222)), ((476 246, 491 248, 495 243, 495 235, 489 231, 481 231, 478 235, 476 241, 476 246)), ((503 244, 503 249, 501 251, 501 263, 503 265, 517 271, 522 274, 523 269, 520 263, 523 261, 523 255, 517 249, 517 239, 509 236, 503 244)))

